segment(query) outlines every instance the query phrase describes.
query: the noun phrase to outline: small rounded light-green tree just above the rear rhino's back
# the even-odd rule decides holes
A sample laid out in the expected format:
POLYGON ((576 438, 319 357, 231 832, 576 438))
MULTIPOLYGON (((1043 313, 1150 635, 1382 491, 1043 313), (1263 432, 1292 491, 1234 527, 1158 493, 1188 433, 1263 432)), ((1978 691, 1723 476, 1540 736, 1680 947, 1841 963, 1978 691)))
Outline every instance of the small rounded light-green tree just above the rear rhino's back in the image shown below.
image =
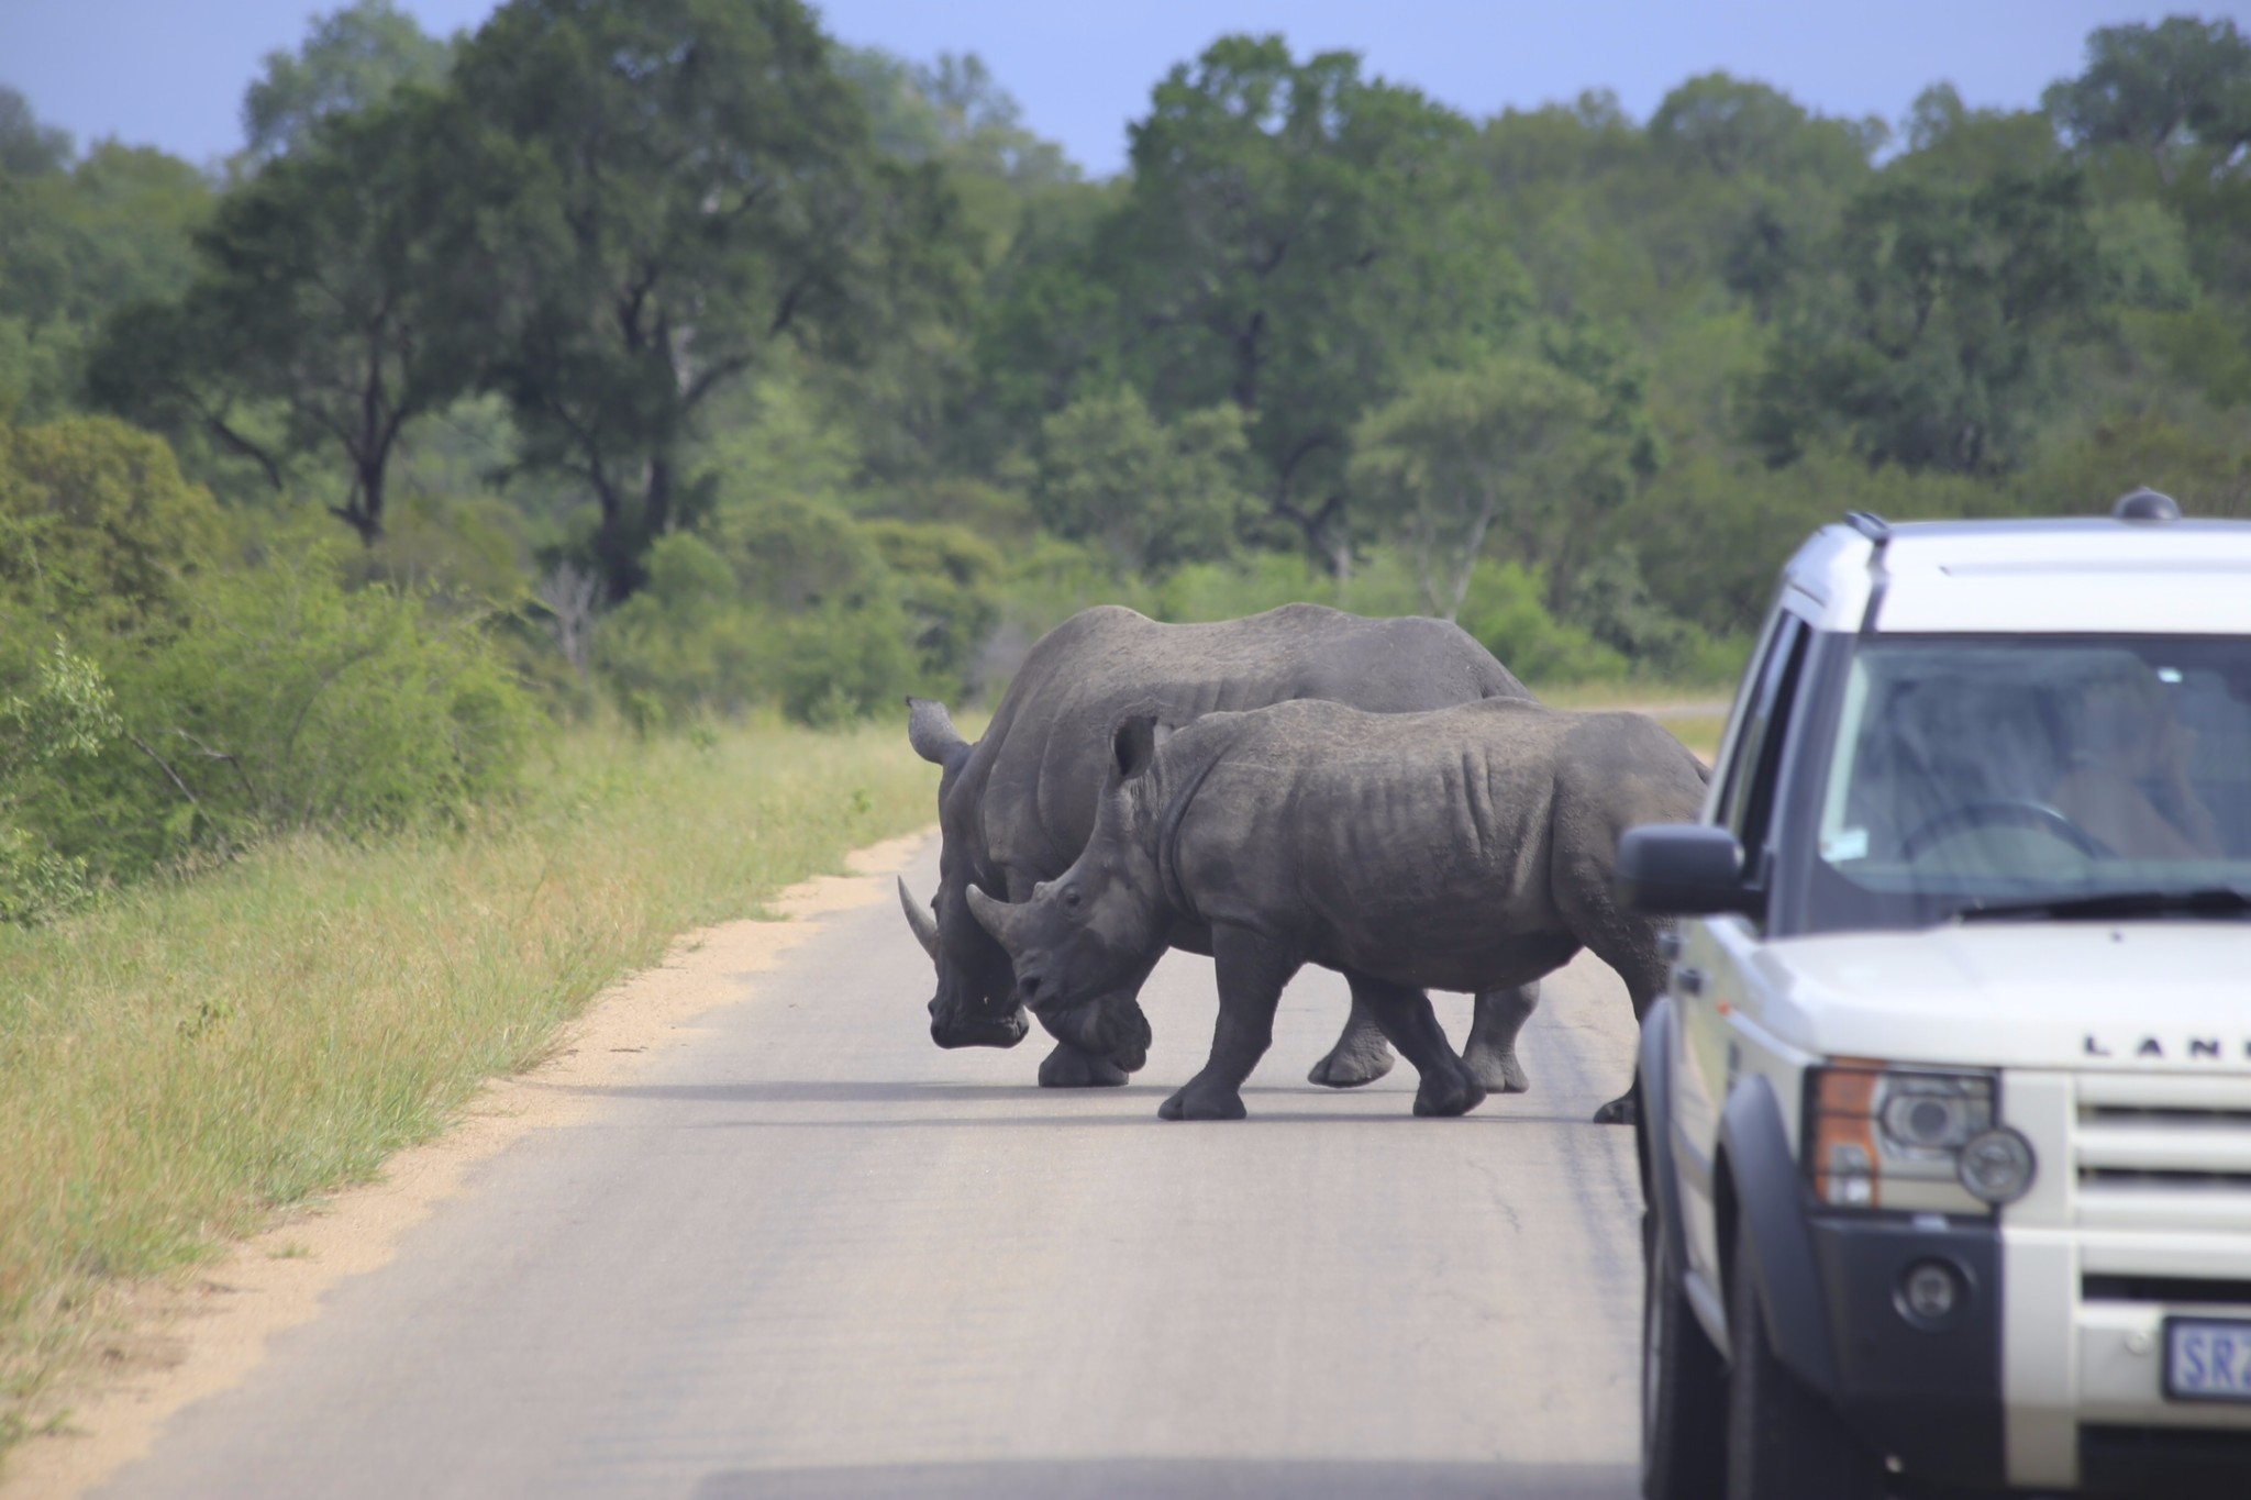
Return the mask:
POLYGON ((1162 423, 1132 389, 1083 396, 1040 425, 1031 501, 1121 573, 1225 558, 1258 501, 1243 486, 1243 414, 1218 405, 1162 423))

